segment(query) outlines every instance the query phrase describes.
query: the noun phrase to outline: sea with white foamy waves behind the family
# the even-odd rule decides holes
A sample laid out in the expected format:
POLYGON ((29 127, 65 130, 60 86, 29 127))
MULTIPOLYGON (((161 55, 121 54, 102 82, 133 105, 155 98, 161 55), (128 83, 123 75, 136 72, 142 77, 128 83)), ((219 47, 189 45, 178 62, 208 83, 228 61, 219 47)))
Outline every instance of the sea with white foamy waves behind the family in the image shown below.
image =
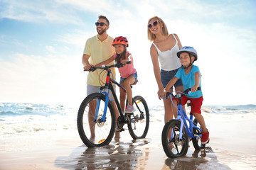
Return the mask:
MULTIPOLYGON (((76 129, 79 106, 46 103, 0 103, 0 137, 76 129)), ((188 109, 186 109, 188 110, 188 109)), ((256 116, 256 105, 202 106, 206 116, 256 116)), ((164 106, 149 107, 150 121, 164 120, 164 106)))

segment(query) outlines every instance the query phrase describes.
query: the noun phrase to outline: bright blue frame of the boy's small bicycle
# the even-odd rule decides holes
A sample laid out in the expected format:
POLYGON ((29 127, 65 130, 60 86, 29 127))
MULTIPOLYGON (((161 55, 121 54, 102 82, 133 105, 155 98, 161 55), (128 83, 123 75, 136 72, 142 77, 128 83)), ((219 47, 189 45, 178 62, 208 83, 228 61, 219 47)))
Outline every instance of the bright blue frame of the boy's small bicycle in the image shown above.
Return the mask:
MULTIPOLYGON (((174 91, 174 92, 175 92, 175 91, 174 91)), ((174 92, 172 92, 172 93, 174 93, 174 92)), ((183 94, 183 92, 180 92, 180 91, 177 91, 177 92, 183 94)), ((172 93, 171 93, 171 94, 172 94, 172 93)), ((172 102, 173 105, 178 109, 176 120, 181 121, 181 127, 185 126, 186 131, 188 132, 188 137, 191 137, 191 138, 196 137, 196 136, 201 137, 201 135, 195 135, 195 134, 193 134, 193 128, 196 128, 196 129, 198 129, 198 130, 200 130, 200 131, 202 131, 202 130, 201 130, 200 128, 198 128, 196 125, 194 125, 194 123, 193 123, 193 115, 190 115, 190 118, 188 118, 188 116, 186 115, 186 112, 185 112, 185 111, 183 110, 183 108, 182 108, 181 96, 182 96, 182 95, 180 94, 180 97, 177 97, 177 98, 178 98, 178 107, 176 107, 175 104, 174 104, 174 102, 173 102, 173 99, 172 99, 172 97, 171 97, 171 95, 170 95, 171 102, 172 102), (187 121, 188 121, 188 123, 189 123, 189 127, 188 127, 187 121)), ((181 138, 182 138, 182 129, 183 129, 183 128, 180 128, 179 140, 181 140, 181 138)), ((172 132, 171 132, 171 138, 172 138, 172 136, 173 136, 173 133, 174 133, 174 132, 173 132, 173 130, 172 130, 172 132)))

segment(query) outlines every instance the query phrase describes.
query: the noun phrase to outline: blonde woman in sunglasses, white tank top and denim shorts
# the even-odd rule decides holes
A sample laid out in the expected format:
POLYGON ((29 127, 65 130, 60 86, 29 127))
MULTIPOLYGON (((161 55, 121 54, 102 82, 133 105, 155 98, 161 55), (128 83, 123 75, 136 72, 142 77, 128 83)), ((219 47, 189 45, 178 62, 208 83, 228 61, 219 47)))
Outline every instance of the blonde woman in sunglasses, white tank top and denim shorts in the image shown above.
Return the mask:
MULTIPOLYGON (((178 35, 169 35, 166 24, 158 16, 149 19, 147 32, 149 40, 153 41, 150 47, 150 55, 154 67, 154 75, 159 87, 157 94, 160 99, 161 92, 164 91, 166 85, 181 67, 176 54, 182 45, 178 35)), ((176 81, 174 86, 176 91, 183 91, 181 79, 176 81)), ((177 117, 176 108, 172 106, 170 98, 164 99, 164 111, 165 123, 173 119, 174 116, 175 118, 177 117)))

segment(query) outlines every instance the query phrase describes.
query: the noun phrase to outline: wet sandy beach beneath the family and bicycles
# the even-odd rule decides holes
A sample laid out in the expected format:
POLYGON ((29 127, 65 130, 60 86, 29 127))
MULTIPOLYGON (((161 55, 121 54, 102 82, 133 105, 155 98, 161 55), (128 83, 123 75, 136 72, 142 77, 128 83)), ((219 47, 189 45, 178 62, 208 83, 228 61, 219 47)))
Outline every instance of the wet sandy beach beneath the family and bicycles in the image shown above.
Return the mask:
POLYGON ((255 116, 204 117, 210 143, 197 151, 190 142, 186 157, 166 157, 164 123, 158 120, 150 123, 146 139, 133 141, 125 130, 119 142, 100 148, 87 148, 75 128, 2 137, 0 169, 256 169, 255 116))

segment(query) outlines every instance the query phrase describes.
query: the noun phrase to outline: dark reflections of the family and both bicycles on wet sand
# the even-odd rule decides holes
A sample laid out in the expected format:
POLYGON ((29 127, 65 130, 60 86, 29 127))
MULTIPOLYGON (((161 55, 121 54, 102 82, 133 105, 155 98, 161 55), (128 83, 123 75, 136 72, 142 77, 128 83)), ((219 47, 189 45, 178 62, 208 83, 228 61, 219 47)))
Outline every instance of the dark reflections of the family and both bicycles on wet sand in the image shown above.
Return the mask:
POLYGON ((201 150, 188 149, 186 157, 166 159, 161 145, 148 140, 111 142, 105 147, 77 147, 68 157, 58 157, 55 166, 63 169, 222 169, 230 170, 221 164, 210 147, 201 150), (149 154, 150 153, 150 154, 149 154), (156 157, 159 155, 159 157, 156 157), (162 156, 161 156, 162 155, 162 156), (152 159, 152 157, 154 159, 152 159), (159 163, 163 160, 163 164, 159 163), (158 164, 158 166, 155 166, 158 164), (162 167, 162 168, 161 168, 162 167))

